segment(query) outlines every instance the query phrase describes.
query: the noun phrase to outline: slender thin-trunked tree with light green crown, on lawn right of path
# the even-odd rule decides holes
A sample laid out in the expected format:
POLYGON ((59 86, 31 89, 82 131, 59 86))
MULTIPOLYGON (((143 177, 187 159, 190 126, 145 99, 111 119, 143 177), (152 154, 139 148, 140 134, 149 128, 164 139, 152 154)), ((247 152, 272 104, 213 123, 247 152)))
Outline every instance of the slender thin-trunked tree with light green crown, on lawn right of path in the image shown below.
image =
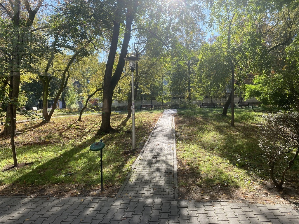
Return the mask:
POLYGON ((211 7, 210 26, 217 25, 217 41, 221 41, 230 67, 231 94, 222 115, 227 114, 231 104, 231 126, 234 126, 234 90, 250 72, 248 64, 259 51, 255 43, 259 39, 255 22, 260 10, 249 1, 214 1, 211 7))

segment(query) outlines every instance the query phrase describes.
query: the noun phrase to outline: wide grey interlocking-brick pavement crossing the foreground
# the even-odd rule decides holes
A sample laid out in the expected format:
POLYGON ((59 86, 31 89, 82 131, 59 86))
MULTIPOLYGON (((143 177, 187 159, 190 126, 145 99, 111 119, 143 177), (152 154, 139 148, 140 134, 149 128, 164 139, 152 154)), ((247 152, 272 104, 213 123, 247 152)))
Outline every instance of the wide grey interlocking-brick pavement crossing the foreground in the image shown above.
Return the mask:
POLYGON ((0 197, 0 223, 298 224, 295 205, 175 199, 0 197))

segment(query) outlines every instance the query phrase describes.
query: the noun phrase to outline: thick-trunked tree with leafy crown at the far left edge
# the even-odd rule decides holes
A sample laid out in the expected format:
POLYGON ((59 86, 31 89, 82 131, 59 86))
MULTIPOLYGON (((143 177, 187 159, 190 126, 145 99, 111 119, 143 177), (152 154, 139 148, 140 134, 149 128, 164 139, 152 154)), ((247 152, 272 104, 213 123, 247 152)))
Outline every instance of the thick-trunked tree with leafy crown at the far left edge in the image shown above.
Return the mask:
MULTIPOLYGON (((13 104, 7 107, 7 117, 13 125, 6 126, 2 134, 16 132, 16 105, 19 96, 20 75, 32 70, 31 64, 44 56, 45 37, 41 35, 35 22, 36 13, 42 7, 39 1, 9 1, 0 3, 1 27, 1 67, 2 75, 12 76, 9 94, 13 104), (12 107, 12 109, 10 108, 12 107)), ((39 21, 43 23, 42 20, 39 21)))

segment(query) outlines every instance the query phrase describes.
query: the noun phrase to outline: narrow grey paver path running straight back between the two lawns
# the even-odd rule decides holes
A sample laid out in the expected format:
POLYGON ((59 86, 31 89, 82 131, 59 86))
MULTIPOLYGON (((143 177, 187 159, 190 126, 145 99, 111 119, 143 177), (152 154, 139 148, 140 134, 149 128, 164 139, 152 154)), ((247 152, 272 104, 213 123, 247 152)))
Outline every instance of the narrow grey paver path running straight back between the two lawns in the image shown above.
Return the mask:
POLYGON ((164 111, 116 197, 176 198, 174 113, 164 111))

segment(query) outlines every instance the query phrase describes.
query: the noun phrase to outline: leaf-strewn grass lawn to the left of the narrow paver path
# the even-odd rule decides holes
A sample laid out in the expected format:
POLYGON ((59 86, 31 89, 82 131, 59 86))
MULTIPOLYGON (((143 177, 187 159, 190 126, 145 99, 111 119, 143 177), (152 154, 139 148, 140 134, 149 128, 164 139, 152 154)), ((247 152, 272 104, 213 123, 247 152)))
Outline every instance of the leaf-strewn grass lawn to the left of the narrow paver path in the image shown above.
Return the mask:
MULTIPOLYGON (((136 145, 145 143, 161 111, 136 112, 136 145)), ((0 195, 114 196, 126 178, 139 150, 132 153, 132 119, 112 113, 111 126, 120 133, 95 136, 101 115, 51 119, 51 122, 17 124, 15 138, 19 166, 13 164, 10 139, 0 136, 0 195), (100 192, 100 152, 89 146, 103 139, 104 192, 100 192)))

